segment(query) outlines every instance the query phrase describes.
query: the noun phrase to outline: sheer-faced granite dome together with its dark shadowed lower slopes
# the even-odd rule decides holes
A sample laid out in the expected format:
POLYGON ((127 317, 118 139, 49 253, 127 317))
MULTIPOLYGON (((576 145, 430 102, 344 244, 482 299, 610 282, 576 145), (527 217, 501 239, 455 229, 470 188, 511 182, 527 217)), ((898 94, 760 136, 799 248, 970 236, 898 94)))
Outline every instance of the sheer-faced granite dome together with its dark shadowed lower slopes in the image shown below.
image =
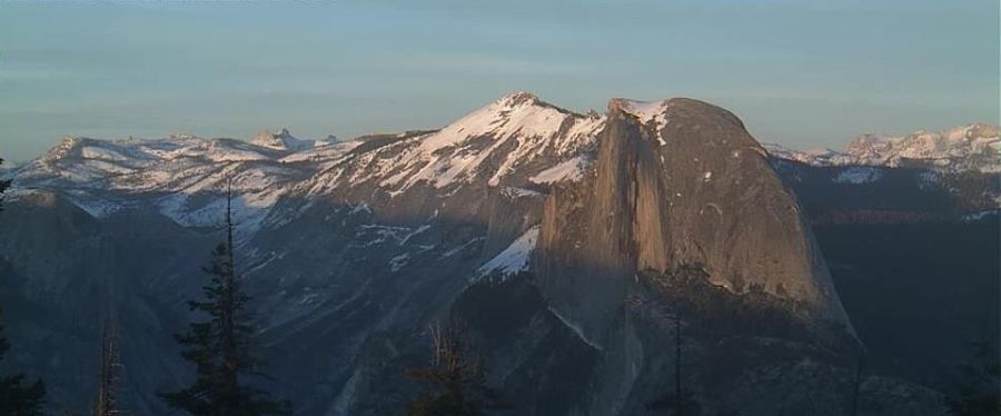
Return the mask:
MULTIPOLYGON (((650 412, 680 360, 708 414, 846 413, 858 340, 795 198, 740 120, 688 99, 613 100, 598 140, 583 178, 551 189, 537 237, 485 266, 515 276, 453 306, 519 414, 650 412)), ((879 405, 861 414, 941 413, 928 390, 866 383, 879 405)))

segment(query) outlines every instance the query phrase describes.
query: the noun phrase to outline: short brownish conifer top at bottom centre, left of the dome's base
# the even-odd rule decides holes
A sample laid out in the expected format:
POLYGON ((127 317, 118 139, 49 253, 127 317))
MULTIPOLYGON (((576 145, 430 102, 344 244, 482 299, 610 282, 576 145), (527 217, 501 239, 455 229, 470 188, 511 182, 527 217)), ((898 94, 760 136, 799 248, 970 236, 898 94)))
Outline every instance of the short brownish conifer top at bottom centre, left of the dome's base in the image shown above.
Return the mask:
POLYGON ((489 409, 509 408, 486 386, 482 366, 470 358, 458 324, 432 326, 430 335, 430 367, 407 370, 408 377, 426 385, 407 406, 407 416, 479 416, 489 409))

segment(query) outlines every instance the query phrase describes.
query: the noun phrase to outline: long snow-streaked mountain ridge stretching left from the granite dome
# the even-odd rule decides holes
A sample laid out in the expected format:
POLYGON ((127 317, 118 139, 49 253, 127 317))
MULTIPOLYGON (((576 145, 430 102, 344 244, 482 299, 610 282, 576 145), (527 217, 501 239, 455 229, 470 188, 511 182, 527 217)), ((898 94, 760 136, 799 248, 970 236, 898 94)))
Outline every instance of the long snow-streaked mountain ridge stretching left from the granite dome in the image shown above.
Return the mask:
POLYGON ((231 181, 239 198, 240 230, 254 232, 289 195, 368 189, 392 197, 412 187, 457 190, 474 182, 538 187, 576 180, 589 164, 587 153, 596 148, 603 125, 604 117, 578 115, 517 92, 440 130, 347 141, 303 140, 287 129, 262 131, 247 141, 194 135, 68 137, 10 176, 17 188, 60 191, 95 217, 142 204, 184 226, 218 220, 219 190, 231 181))

